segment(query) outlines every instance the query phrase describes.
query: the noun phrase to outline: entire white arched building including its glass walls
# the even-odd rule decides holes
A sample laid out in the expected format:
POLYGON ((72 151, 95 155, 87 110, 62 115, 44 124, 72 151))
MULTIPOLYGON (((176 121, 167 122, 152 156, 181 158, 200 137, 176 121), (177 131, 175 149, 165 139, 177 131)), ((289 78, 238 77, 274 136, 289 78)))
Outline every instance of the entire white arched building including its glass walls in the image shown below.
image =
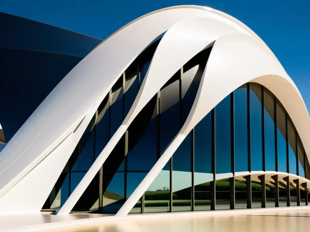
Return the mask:
POLYGON ((135 19, 51 91, 0 153, 0 214, 308 205, 310 121, 246 25, 203 6, 135 19))

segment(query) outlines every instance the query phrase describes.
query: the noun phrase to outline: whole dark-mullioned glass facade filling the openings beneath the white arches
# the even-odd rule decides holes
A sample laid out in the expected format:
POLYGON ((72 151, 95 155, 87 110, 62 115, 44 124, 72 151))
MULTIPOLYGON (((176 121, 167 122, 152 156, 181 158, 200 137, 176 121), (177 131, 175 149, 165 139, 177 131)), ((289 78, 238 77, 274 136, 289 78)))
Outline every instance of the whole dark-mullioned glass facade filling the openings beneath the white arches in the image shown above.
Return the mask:
MULTIPOLYGON (((64 204, 121 125, 147 73, 148 54, 157 44, 140 54, 105 97, 49 202, 60 189, 64 204)), ((73 210, 117 213, 183 126, 209 53, 206 49, 197 54, 153 96, 73 210)), ((130 213, 308 205, 309 186, 286 174, 310 178, 308 166, 285 108, 267 88, 247 83, 190 131, 130 213)))

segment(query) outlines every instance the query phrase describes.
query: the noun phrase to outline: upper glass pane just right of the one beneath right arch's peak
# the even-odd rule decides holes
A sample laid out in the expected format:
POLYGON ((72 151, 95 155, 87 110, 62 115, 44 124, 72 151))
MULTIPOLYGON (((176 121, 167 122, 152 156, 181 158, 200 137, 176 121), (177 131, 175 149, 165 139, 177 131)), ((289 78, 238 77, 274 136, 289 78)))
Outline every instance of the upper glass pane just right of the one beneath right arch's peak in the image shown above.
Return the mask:
POLYGON ((265 168, 266 171, 275 171, 274 96, 267 88, 264 88, 264 124, 265 168))

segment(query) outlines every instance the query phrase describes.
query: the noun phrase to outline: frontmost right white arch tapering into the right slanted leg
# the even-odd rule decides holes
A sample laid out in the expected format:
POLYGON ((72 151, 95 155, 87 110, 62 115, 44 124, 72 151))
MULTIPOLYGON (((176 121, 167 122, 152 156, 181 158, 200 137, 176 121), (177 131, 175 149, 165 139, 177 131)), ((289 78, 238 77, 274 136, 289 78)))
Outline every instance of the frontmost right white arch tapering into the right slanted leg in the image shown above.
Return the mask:
POLYGON ((193 127, 228 94, 250 81, 266 86, 286 108, 297 131, 301 132, 302 141, 309 138, 309 116, 303 99, 280 63, 266 51, 266 46, 254 37, 243 33, 224 35, 215 41, 193 107, 184 126, 117 215, 129 213, 193 127), (279 88, 279 85, 282 88, 279 88), (300 114, 303 115, 300 116, 300 114), (303 118, 303 121, 298 121, 299 118, 303 118), (302 128, 305 124, 306 127, 302 128), (303 133, 308 133, 308 136, 302 137, 303 133))

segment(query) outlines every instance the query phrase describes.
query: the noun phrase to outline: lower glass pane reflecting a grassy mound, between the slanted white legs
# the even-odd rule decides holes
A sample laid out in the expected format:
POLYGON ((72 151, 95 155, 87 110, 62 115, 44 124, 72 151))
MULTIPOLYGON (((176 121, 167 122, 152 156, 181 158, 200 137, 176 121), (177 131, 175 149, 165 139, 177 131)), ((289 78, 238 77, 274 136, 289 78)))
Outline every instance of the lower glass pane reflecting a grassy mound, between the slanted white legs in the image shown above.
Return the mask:
POLYGON ((103 212, 117 213, 124 204, 124 173, 103 174, 103 212))

